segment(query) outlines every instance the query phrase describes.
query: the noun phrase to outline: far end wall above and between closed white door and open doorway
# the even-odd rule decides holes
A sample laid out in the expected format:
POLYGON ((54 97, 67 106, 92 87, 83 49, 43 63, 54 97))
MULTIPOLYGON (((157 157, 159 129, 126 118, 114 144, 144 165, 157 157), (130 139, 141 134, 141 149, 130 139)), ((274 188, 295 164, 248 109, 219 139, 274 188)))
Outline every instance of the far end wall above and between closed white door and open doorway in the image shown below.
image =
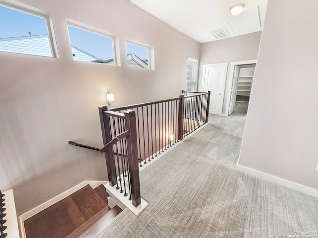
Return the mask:
MULTIPOLYGON (((203 65, 228 62, 228 72, 225 84, 222 114, 225 114, 228 89, 232 86, 233 78, 230 75, 231 62, 256 60, 261 32, 254 32, 237 37, 227 38, 201 44, 201 58, 199 60, 199 91, 202 91, 203 65)), ((231 95, 230 95, 231 96, 231 95)))

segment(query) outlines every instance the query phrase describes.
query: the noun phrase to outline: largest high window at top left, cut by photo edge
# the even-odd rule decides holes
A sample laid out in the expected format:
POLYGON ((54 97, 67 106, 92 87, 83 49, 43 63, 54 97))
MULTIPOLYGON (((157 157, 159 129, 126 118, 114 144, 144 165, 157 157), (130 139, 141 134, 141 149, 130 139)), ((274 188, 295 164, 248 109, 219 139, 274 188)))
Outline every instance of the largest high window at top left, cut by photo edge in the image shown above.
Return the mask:
POLYGON ((0 5, 0 51, 56 57, 48 22, 43 10, 0 5))

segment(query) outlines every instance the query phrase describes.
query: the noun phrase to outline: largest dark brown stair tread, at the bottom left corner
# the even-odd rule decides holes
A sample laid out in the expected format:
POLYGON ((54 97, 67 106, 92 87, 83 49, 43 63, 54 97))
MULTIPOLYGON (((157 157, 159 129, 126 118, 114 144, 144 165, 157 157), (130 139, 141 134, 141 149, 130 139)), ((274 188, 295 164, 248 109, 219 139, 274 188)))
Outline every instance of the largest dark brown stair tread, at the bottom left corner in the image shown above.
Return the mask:
POLYGON ((71 196, 24 221, 27 238, 65 238, 86 219, 71 196))

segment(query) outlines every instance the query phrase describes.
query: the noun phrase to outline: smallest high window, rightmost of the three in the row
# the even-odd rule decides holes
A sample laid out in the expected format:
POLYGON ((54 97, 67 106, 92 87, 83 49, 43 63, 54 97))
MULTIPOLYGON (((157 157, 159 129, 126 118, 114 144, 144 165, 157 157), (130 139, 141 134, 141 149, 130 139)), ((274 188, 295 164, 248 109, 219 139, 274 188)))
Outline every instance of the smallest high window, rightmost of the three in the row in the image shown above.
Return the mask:
MULTIPOLYGON (((151 52, 152 47, 135 42, 126 42, 127 66, 132 68, 152 68, 151 52)), ((153 69, 153 68, 152 68, 153 69)))

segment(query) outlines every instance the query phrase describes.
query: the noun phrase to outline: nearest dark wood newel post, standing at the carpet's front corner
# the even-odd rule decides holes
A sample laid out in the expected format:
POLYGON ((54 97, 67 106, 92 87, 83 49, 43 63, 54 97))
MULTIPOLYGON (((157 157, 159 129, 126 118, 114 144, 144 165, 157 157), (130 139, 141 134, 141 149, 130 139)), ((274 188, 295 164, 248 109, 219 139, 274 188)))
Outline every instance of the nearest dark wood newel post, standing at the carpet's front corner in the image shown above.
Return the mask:
POLYGON ((137 151, 137 129, 136 129, 136 113, 135 111, 125 111, 126 129, 130 131, 127 139, 128 152, 128 168, 131 184, 131 200, 135 207, 141 203, 140 198, 140 181, 138 167, 138 151, 137 151))

